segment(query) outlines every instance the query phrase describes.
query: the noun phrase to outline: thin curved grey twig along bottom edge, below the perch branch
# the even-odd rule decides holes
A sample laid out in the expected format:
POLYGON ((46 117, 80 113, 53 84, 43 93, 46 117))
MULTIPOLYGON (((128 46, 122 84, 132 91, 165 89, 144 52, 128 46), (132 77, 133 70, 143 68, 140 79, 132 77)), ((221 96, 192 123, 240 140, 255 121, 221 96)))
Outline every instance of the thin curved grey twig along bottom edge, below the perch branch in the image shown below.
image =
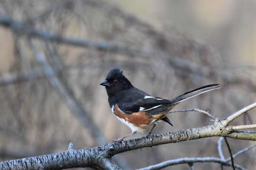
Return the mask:
MULTIPOLYGON (((138 170, 160 170, 168 166, 173 166, 173 165, 178 165, 178 164, 183 164, 183 163, 196 163, 196 162, 214 162, 214 163, 219 163, 224 166, 232 166, 231 163, 226 162, 225 160, 222 160, 220 158, 215 158, 215 157, 202 157, 202 158, 179 158, 179 159, 174 159, 174 160, 169 160, 169 161, 164 161, 155 165, 151 165, 145 168, 141 168, 138 170)), ((238 170, 246 170, 245 168, 235 164, 234 165, 238 170)))

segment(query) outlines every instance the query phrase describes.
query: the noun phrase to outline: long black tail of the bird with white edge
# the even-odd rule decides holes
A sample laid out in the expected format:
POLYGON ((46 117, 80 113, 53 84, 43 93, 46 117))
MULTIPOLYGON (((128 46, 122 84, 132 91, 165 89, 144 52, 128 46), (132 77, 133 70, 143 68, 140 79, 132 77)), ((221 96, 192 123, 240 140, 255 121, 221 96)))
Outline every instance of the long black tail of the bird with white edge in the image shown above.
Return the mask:
POLYGON ((206 85, 206 86, 200 87, 198 89, 192 90, 190 92, 184 93, 182 95, 179 95, 179 96, 175 97, 174 99, 172 99, 172 101, 174 103, 178 104, 179 102, 182 102, 184 100, 187 100, 189 98, 197 96, 201 93, 209 92, 211 90, 215 90, 215 89, 219 89, 219 88, 220 88, 219 84, 206 85))

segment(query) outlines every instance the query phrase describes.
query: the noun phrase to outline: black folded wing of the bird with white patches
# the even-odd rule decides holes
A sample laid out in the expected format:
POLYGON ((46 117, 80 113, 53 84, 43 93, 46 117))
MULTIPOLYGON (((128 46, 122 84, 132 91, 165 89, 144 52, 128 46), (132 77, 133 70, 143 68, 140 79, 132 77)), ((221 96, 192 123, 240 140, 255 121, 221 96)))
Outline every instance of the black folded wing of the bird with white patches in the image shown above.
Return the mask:
POLYGON ((146 95, 132 102, 120 101, 118 102, 118 106, 123 112, 129 114, 132 112, 153 110, 170 103, 172 102, 168 99, 146 95))

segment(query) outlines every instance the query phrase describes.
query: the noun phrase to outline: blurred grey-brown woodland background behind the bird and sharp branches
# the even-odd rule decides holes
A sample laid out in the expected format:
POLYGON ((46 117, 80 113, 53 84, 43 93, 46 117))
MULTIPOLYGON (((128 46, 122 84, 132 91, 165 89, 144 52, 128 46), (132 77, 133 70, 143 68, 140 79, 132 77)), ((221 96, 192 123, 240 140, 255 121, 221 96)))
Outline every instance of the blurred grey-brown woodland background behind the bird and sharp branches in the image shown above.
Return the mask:
MULTIPOLYGON (((134 86, 164 98, 221 85, 174 110, 199 108, 223 119, 256 102, 255 9, 255 0, 0 0, 1 17, 46 33, 0 27, 0 161, 63 152, 70 142, 74 149, 95 147, 128 134, 99 85, 112 68, 121 68, 134 86), (49 39, 49 34, 74 41, 49 39)), ((232 124, 254 124, 255 114, 251 110, 232 124)), ((153 134, 212 124, 196 112, 168 117, 174 127, 163 122, 153 134)), ((218 157, 218 139, 122 153, 119 166, 137 169, 182 157, 218 157)), ((228 140, 233 153, 255 143, 228 140)), ((225 144, 223 150, 229 157, 225 144)), ((243 153, 235 163, 255 170, 255 154, 256 149, 243 153)), ((220 169, 215 163, 194 167, 220 169)), ((171 168, 188 166, 165 169, 171 168)))

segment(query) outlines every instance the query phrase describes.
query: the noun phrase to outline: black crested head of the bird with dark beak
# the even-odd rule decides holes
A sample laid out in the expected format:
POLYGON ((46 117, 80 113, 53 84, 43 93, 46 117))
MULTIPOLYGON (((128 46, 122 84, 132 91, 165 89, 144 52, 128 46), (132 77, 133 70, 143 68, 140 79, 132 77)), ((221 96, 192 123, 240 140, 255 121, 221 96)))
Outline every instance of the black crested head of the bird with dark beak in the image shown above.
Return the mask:
POLYGON ((119 68, 114 68, 108 73, 106 80, 100 85, 106 87, 109 97, 114 96, 120 92, 126 91, 133 87, 130 81, 123 75, 119 68))

